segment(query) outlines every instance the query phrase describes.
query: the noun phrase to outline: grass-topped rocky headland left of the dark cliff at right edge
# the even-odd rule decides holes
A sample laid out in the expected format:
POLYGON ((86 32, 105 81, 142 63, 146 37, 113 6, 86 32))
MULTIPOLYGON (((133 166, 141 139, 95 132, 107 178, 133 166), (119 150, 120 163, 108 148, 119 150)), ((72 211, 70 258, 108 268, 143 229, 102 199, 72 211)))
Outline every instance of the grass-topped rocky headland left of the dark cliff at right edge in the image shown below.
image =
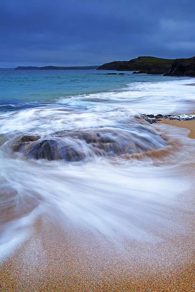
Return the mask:
MULTIPOLYGON (((162 70, 168 72, 173 59, 162 59, 150 56, 142 56, 130 61, 114 61, 106 63, 97 68, 97 70, 117 70, 117 71, 149 71, 162 70)), ((162 74, 163 74, 162 73, 162 74)))

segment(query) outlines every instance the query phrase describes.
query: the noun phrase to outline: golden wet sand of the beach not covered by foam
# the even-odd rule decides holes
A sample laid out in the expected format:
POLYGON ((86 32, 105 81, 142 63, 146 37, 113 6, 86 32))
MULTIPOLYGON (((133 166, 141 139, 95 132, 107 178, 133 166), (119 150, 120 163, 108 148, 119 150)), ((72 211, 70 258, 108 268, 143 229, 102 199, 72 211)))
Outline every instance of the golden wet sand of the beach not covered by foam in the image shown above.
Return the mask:
MULTIPOLYGON (((158 123, 188 128, 189 137, 195 138, 195 121, 158 123)), ((193 179, 192 165, 179 171, 193 179)), ((166 218, 184 232, 153 230, 161 238, 153 243, 114 244, 85 225, 66 220, 62 226, 58 214, 44 214, 28 228, 22 247, 2 263, 1 291, 194 291, 193 204, 194 188, 178 195, 166 218)))

